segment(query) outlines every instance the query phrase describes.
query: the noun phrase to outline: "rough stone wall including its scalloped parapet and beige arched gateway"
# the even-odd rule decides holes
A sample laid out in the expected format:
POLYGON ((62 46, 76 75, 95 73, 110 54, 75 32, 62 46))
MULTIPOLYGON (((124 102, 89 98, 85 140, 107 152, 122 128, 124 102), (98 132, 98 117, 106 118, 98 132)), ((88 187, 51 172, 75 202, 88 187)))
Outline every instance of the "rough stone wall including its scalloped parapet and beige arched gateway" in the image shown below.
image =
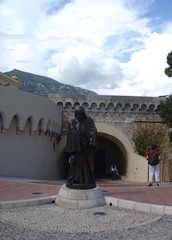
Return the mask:
MULTIPOLYGON (((65 156, 67 123, 78 105, 84 106, 88 116, 95 121, 98 145, 94 170, 96 177, 110 174, 110 166, 117 165, 122 179, 146 182, 148 166, 144 157, 134 151, 132 137, 138 124, 161 123, 158 112, 160 98, 129 96, 75 96, 49 95, 63 112, 61 146, 65 156)), ((67 160, 60 160, 62 176, 67 169, 67 160)))

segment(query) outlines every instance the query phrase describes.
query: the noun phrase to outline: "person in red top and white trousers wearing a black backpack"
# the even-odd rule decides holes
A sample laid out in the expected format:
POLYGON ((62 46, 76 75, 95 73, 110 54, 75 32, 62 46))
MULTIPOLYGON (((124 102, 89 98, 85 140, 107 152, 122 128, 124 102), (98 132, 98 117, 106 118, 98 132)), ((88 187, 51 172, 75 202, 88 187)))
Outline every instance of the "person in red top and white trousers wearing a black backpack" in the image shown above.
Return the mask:
POLYGON ((160 152, 158 151, 157 145, 152 145, 152 149, 149 150, 146 154, 146 159, 149 164, 149 187, 153 186, 153 180, 155 177, 156 185, 159 186, 160 182, 160 165, 159 162, 160 152))

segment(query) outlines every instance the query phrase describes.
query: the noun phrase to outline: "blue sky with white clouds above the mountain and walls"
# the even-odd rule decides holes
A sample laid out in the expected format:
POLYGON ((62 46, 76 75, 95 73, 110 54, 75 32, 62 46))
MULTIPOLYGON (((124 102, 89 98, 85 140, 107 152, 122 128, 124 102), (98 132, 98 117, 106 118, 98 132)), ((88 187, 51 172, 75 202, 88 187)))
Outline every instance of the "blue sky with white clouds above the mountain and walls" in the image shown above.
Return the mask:
POLYGON ((0 0, 0 71, 102 95, 169 95, 171 9, 171 0, 0 0))

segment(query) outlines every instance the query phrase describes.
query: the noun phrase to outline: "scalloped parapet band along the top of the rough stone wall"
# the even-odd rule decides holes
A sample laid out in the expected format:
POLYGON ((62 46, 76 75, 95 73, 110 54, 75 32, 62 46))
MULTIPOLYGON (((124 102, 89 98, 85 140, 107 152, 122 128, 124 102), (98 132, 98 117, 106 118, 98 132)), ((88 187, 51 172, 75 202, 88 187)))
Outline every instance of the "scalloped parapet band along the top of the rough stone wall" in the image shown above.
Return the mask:
POLYGON ((86 111, 91 112, 158 113, 162 98, 50 94, 49 99, 65 111, 72 111, 76 106, 82 105, 86 111))

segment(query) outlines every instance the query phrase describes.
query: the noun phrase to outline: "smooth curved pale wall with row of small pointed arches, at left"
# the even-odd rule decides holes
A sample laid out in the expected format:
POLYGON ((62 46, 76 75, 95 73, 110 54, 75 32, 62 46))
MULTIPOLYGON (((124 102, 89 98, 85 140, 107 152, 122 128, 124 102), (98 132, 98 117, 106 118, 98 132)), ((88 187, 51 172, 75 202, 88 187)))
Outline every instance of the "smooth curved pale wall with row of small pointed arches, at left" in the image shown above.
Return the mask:
POLYGON ((0 86, 0 176, 58 179, 61 125, 49 99, 0 86))

